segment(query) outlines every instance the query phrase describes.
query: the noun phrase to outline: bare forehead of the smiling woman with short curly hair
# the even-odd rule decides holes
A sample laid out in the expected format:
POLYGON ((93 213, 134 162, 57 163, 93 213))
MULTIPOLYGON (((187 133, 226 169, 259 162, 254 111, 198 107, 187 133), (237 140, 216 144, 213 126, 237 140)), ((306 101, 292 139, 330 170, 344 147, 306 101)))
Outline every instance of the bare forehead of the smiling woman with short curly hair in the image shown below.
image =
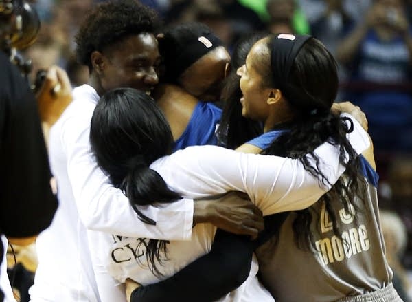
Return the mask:
POLYGON ((160 56, 157 40, 153 34, 148 32, 126 36, 110 47, 108 54, 122 61, 139 58, 156 59, 160 56))

